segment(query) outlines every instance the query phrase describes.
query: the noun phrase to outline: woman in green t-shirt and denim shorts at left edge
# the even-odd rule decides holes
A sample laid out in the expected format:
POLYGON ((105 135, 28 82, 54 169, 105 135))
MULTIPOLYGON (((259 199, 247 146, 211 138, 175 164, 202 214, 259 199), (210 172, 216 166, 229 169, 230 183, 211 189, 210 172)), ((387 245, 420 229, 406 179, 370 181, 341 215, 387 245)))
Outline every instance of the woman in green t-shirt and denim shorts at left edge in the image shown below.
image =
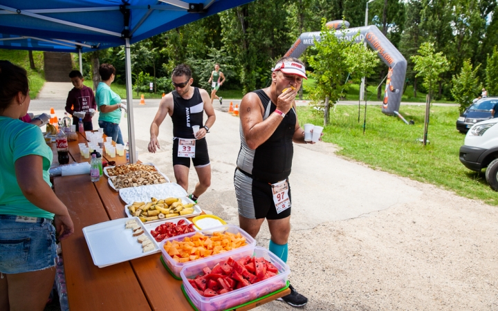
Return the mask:
POLYGON ((74 232, 51 189, 53 152, 35 124, 26 70, 0 61, 0 310, 44 310, 55 279, 55 234, 74 232), (55 227, 54 227, 55 225, 55 227))

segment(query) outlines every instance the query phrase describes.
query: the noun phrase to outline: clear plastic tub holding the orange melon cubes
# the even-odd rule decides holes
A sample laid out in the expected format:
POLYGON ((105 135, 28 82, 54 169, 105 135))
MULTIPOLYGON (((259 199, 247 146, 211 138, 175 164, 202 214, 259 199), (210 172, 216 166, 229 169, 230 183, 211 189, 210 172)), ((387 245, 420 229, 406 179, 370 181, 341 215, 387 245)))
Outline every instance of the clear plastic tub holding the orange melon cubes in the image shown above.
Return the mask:
POLYGON ((221 227, 200 230, 198 232, 200 232, 201 234, 203 234, 205 236, 212 236, 213 232, 230 232, 232 234, 237 234, 240 232, 240 234, 244 238, 246 238, 247 245, 243 246, 243 247, 239 247, 237 249, 232 249, 228 252, 224 252, 221 254, 216 254, 216 255, 209 256, 209 257, 205 257, 205 258, 199 258, 196 261, 189 261, 187 263, 177 263, 176 261, 174 261, 172 256, 169 256, 169 254, 165 251, 165 249, 164 249, 165 243, 167 243, 167 241, 169 241, 169 242, 183 241, 183 239, 185 237, 193 236, 194 234, 196 234, 196 232, 190 232, 189 234, 183 234, 182 236, 174 236, 172 238, 167 238, 160 243, 159 248, 160 248, 161 252, 163 252, 163 258, 164 258, 164 261, 165 261, 167 267, 169 268, 169 272, 171 272, 176 279, 180 279, 180 272, 181 272, 183 266, 187 265, 188 263, 195 263, 198 261, 204 261, 208 258, 222 258, 224 256, 227 256, 227 254, 228 254, 228 256, 230 256, 230 254, 233 254, 234 252, 244 252, 243 256, 248 256, 248 255, 252 254, 252 249, 256 246, 256 241, 254 238, 252 238, 252 236, 250 236, 247 232, 243 231, 243 229, 241 229, 237 226, 234 226, 234 225, 224 225, 221 227))

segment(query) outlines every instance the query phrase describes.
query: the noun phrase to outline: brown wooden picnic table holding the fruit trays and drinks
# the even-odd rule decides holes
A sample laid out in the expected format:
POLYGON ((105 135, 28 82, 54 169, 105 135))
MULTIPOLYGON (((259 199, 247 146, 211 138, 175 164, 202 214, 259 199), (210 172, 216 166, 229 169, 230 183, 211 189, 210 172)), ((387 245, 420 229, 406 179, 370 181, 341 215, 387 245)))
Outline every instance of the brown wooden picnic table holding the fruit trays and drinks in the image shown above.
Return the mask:
MULTIPOLYGON (((78 142, 86 142, 84 133, 78 135, 78 141, 68 142, 70 162, 89 162, 80 155, 78 142)), ((57 149, 55 143, 51 145, 56 162, 57 149)), ((103 156, 102 160, 126 163, 124 156, 103 156)), ((75 226, 75 233, 61 243, 71 311, 192 310, 181 290, 182 281, 174 279, 160 262, 161 253, 103 268, 93 264, 82 229, 127 217, 125 203, 109 186, 107 177, 91 182, 89 175, 59 176, 53 178, 53 185, 75 226)), ((237 310, 250 310, 290 292, 286 289, 237 310)))

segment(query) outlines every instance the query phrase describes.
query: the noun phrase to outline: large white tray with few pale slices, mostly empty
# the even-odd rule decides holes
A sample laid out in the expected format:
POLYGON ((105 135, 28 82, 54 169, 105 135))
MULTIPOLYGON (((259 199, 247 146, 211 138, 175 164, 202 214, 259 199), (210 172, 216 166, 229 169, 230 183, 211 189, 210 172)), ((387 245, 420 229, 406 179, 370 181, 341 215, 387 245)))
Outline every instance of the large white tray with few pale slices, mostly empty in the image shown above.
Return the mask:
MULTIPOLYGON (((139 225, 142 225, 138 217, 133 218, 139 225)), ((156 244, 154 244, 154 250, 142 252, 142 244, 138 243, 136 236, 133 236, 133 231, 124 227, 126 222, 131 219, 109 220, 83 228, 86 244, 89 246, 95 265, 107 267, 160 252, 156 244)), ((152 243, 155 242, 149 232, 144 231, 144 234, 149 237, 152 243)))

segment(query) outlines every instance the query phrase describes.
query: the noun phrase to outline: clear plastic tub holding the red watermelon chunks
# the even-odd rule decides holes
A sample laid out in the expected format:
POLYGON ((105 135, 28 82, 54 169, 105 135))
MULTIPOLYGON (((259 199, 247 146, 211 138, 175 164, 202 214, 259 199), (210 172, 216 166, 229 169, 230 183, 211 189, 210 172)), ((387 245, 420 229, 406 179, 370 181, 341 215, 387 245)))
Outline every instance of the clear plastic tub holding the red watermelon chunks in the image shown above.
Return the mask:
POLYGON ((208 257, 203 261, 193 261, 192 263, 186 264, 181 270, 181 278, 183 280, 183 288, 190 298, 190 301, 196 306, 200 311, 214 311, 214 310, 226 310, 232 308, 236 305, 241 305, 248 301, 258 299, 259 297, 275 292, 280 288, 286 286, 288 275, 291 273, 288 265, 284 263, 280 258, 275 256, 268 249, 256 246, 253 249, 253 254, 250 256, 264 257, 270 263, 273 263, 278 269, 278 274, 272 276, 270 279, 260 281, 255 284, 246 286, 245 288, 239 288, 238 290, 233 290, 232 292, 227 292, 214 297, 204 297, 201 296, 192 285, 190 285, 188 279, 194 279, 196 275, 204 274, 203 267, 210 267, 212 269, 216 263, 232 257, 235 261, 242 257, 247 256, 246 252, 238 253, 224 253, 221 258, 208 257))

